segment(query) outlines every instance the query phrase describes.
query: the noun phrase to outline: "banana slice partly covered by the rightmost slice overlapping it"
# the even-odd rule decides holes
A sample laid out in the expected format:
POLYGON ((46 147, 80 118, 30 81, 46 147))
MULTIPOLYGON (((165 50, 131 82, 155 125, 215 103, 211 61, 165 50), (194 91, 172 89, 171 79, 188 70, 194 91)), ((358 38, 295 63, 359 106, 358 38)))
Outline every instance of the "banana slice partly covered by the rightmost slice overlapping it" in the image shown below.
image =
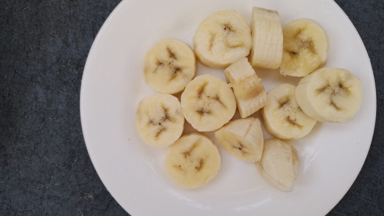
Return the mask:
POLYGON ((261 110, 265 130, 280 139, 299 139, 316 124, 299 107, 295 86, 279 85, 267 93, 267 103, 261 110))

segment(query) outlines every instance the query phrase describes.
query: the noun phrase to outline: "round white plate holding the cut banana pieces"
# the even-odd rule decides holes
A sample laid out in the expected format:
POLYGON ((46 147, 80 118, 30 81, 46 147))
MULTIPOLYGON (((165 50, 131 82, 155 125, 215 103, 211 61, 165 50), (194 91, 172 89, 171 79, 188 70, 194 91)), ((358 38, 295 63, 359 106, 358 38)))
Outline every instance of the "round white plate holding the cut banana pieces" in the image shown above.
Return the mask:
MULTIPOLYGON (((223 70, 198 65, 198 74, 203 73, 224 79, 223 70)), ((280 83, 298 82, 276 70, 256 69, 256 73, 267 90, 280 83)), ((375 81, 367 52, 351 21, 331 0, 124 0, 92 46, 80 103, 84 138, 96 171, 132 216, 325 215, 359 173, 376 116, 375 81), (155 93, 143 80, 144 55, 166 37, 192 46, 197 25, 218 10, 235 9, 250 20, 253 6, 278 10, 283 25, 303 17, 317 21, 330 40, 325 66, 344 67, 361 79, 362 106, 351 121, 317 123, 308 136, 292 142, 300 160, 292 192, 266 184, 252 163, 223 149, 218 175, 201 188, 183 189, 162 167, 166 148, 147 146, 134 129, 137 103, 155 93)))

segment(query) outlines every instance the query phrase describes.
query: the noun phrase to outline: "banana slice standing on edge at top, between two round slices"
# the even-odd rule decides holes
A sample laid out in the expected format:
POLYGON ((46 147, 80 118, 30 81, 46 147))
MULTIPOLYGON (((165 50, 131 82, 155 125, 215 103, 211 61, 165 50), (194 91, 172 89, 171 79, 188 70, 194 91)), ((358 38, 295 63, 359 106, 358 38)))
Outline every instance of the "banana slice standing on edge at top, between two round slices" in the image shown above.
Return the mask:
POLYGON ((250 62, 252 66, 278 68, 283 56, 283 30, 279 12, 254 7, 251 15, 251 29, 250 62))

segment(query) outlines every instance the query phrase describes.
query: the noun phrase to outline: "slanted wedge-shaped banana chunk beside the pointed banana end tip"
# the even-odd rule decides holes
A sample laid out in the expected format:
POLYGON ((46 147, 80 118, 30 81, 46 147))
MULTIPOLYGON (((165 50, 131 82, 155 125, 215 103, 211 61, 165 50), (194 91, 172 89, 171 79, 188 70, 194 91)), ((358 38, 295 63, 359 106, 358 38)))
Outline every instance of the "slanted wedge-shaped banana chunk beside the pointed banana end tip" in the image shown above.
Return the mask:
POLYGON ((215 132, 215 137, 227 152, 241 160, 256 162, 261 158, 264 139, 258 119, 230 121, 215 132))

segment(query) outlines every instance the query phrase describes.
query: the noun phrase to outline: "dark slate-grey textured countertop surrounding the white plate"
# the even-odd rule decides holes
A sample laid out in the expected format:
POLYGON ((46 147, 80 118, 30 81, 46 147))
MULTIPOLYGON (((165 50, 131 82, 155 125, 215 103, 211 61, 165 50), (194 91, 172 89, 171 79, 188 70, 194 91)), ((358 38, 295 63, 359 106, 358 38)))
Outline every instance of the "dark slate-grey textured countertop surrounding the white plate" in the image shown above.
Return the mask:
MULTIPOLYGON (((0 215, 128 215, 84 143, 82 73, 120 0, 0 0, 0 215)), ((384 215, 384 1, 336 0, 371 59, 377 118, 363 168, 329 215, 384 215)))

